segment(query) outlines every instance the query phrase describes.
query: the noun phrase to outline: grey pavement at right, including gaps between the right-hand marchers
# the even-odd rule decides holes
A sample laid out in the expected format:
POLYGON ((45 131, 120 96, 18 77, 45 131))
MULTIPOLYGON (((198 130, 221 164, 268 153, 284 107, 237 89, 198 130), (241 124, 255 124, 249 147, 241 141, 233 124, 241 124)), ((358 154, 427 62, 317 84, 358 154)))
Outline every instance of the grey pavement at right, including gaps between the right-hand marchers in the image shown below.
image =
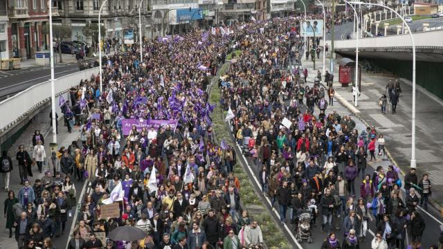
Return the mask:
MULTIPOLYGON (((320 54, 320 58, 321 58, 320 54)), ((302 61, 303 66, 308 68, 308 82, 313 82, 316 76, 316 71, 323 68, 321 61, 316 61, 316 71, 313 69, 311 61, 302 61)), ((329 66, 329 62, 327 62, 329 66)), ((328 70, 329 68, 327 68, 328 70)), ((334 79, 338 79, 338 66, 334 68, 334 79)), ((397 106, 397 113, 390 114, 390 109, 387 109, 388 114, 381 114, 381 109, 378 106, 378 100, 385 91, 388 79, 392 78, 390 75, 383 74, 368 74, 361 75, 361 96, 359 98, 359 106, 353 106, 353 97, 350 92, 351 87, 341 87, 338 82, 334 82, 334 89, 336 91, 334 106, 329 106, 326 110, 329 113, 336 110, 341 116, 350 115, 352 120, 356 122, 356 129, 364 129, 368 124, 374 125, 377 131, 382 132, 386 139, 386 148, 389 151, 387 158, 377 156, 377 161, 368 163, 370 167, 366 170, 367 174, 372 174, 374 168, 381 165, 385 169, 388 165, 398 165, 402 172, 407 172, 410 164, 410 133, 411 133, 411 109, 412 109, 412 86, 404 79, 401 79, 401 97, 399 105, 397 106)), ((308 85, 311 86, 311 83, 308 85)), ((443 103, 431 93, 426 93, 424 89, 417 88, 417 174, 421 176, 427 172, 430 176, 433 185, 433 201, 442 200, 443 192, 439 191, 443 187, 443 166, 439 155, 443 153, 443 131, 438 129, 443 123, 443 118, 436 115, 443 110, 443 103), (433 121, 429 122, 429 117, 433 117, 433 121), (440 146, 439 146, 440 145, 440 146), (439 170, 440 168, 440 170, 439 170)), ((318 110, 316 109, 316 112, 318 110)), ((314 112, 314 115, 316 113, 314 112)), ((252 163, 251 161, 249 163, 252 163)), ((401 176, 403 178, 403 175, 401 176)), ((356 183, 356 191, 359 192, 359 183, 356 183)), ((359 196, 359 194, 357 194, 359 196)), ((428 211, 420 208, 422 217, 426 223, 426 230, 422 239, 422 247, 428 248, 433 243, 437 242, 440 236, 439 225, 443 225, 442 216, 440 215, 440 206, 435 203, 435 207, 429 208, 428 211)), ((277 206, 274 207, 278 209, 277 206)), ((318 225, 320 222, 318 222, 318 225)), ((373 239, 375 224, 370 222, 368 224, 367 239, 361 248, 370 248, 370 241, 373 239)), ((343 232, 337 232, 338 238, 343 241, 343 232)), ((320 234, 319 228, 314 229, 314 242, 306 244, 306 248, 320 248, 321 242, 326 237, 326 233, 320 234), (317 239, 319 238, 319 239, 317 239)))

